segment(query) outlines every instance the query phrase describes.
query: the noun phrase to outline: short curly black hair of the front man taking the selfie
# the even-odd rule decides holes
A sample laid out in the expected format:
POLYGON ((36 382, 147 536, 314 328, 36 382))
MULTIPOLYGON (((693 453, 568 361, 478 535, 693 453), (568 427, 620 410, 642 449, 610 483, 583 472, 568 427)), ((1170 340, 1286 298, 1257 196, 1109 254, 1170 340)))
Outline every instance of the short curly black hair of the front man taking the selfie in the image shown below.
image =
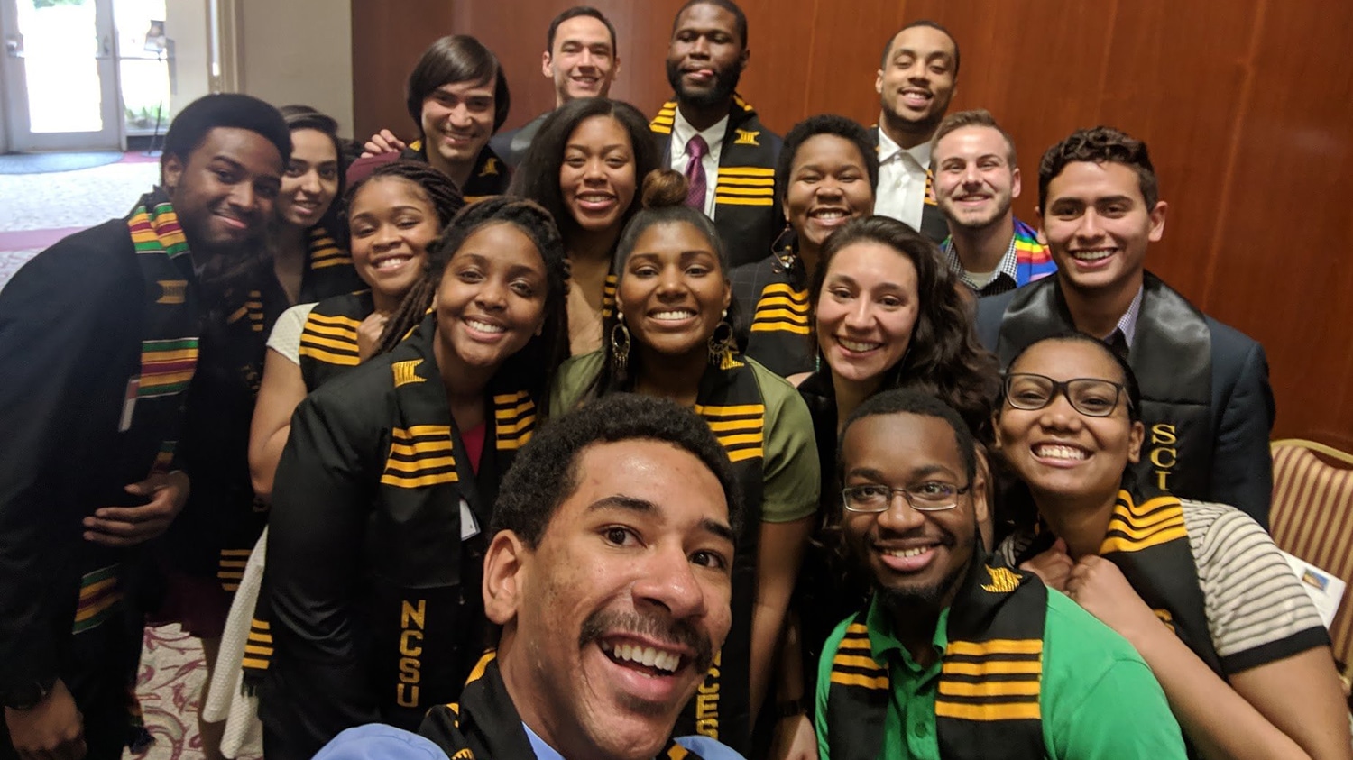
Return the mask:
POLYGON ((490 536, 511 530, 534 549, 549 521, 578 490, 582 452, 595 444, 660 441, 704 462, 724 488, 736 536, 743 519, 741 487, 709 425, 676 403, 637 394, 612 394, 552 419, 521 450, 498 490, 490 536))

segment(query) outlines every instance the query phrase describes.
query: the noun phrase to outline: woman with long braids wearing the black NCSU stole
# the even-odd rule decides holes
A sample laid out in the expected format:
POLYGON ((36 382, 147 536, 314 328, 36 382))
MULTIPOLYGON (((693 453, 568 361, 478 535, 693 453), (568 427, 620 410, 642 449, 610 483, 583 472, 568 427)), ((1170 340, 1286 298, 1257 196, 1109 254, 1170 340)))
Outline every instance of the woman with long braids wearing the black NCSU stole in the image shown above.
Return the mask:
POLYGON ((540 206, 486 199, 425 281, 434 306, 409 338, 296 408, 264 569, 269 760, 360 723, 417 729, 487 641, 483 531, 563 353, 563 243, 540 206))

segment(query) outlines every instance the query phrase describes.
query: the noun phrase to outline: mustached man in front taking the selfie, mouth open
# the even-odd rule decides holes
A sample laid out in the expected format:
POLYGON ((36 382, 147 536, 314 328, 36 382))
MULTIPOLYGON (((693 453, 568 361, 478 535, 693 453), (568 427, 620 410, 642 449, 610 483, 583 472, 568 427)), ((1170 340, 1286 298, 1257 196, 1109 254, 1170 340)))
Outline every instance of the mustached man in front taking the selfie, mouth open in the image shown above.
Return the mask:
POLYGON ((497 649, 422 736, 348 729, 317 760, 740 760, 670 737, 732 623, 741 511, 728 456, 687 408, 614 394, 552 421, 494 506, 497 649))

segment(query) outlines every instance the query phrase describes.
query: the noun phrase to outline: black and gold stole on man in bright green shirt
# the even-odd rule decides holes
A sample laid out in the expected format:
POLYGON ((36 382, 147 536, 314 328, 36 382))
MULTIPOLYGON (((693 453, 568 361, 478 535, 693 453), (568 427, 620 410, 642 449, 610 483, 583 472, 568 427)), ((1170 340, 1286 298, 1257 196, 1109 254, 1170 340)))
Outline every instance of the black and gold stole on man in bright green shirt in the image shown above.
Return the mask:
MULTIPOLYGON (((1047 588, 1032 573, 974 559, 948 611, 948 646, 935 694, 935 733, 947 760, 1042 760, 1039 688, 1047 588)), ((866 613, 832 656, 827 692, 833 760, 875 760, 892 686, 873 655, 866 613)))

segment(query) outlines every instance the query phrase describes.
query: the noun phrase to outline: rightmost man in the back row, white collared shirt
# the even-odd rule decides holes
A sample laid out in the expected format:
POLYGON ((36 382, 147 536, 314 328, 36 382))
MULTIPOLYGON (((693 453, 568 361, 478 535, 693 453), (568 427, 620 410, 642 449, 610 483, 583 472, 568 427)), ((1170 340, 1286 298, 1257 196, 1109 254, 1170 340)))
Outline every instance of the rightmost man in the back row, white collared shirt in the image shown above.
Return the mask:
POLYGON ((874 91, 879 97, 874 214, 940 242, 948 234, 931 189, 931 137, 958 82, 958 41, 931 20, 912 22, 888 42, 874 91))

